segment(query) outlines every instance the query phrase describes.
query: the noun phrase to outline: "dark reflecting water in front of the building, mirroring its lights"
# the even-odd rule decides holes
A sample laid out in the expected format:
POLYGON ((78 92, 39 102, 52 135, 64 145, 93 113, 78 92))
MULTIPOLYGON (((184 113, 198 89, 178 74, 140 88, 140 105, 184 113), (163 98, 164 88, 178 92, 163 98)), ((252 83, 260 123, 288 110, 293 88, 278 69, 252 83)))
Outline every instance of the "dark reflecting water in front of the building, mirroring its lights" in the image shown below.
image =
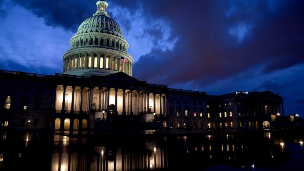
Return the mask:
POLYGON ((302 170, 303 135, 0 133, 0 170, 302 170))

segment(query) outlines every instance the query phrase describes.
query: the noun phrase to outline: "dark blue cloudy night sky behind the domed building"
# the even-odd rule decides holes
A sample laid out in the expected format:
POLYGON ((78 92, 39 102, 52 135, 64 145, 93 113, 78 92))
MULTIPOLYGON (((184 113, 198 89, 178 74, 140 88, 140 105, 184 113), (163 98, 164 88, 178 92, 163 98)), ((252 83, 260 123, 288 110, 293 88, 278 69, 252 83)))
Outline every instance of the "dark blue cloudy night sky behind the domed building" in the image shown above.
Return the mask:
MULTIPOLYGON (((62 72, 97 0, 0 0, 2 70, 62 72)), ((107 0, 133 77, 219 95, 270 90, 304 115, 304 1, 107 0)))

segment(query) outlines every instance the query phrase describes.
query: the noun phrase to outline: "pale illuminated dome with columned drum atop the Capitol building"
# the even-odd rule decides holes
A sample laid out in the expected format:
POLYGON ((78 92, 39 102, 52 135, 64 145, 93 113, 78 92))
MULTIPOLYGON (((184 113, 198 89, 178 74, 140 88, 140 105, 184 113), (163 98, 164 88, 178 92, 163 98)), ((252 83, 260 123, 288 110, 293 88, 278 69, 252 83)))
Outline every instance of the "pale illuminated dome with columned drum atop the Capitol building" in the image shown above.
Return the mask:
POLYGON ((63 55, 64 74, 103 76, 122 71, 132 76, 129 44, 106 12, 108 3, 98 1, 96 5, 96 13, 81 23, 70 40, 71 49, 63 55))

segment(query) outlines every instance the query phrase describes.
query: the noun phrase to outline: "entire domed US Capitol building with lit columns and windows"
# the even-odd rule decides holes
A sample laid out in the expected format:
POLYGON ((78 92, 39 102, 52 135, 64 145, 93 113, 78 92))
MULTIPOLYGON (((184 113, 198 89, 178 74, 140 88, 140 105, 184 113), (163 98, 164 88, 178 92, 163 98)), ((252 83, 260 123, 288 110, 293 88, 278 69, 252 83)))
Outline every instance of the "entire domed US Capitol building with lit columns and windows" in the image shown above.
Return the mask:
POLYGON ((270 91, 213 96, 133 78, 108 3, 96 5, 70 39, 62 74, 0 70, 0 129, 203 133, 270 129, 284 116, 282 97, 270 91))

